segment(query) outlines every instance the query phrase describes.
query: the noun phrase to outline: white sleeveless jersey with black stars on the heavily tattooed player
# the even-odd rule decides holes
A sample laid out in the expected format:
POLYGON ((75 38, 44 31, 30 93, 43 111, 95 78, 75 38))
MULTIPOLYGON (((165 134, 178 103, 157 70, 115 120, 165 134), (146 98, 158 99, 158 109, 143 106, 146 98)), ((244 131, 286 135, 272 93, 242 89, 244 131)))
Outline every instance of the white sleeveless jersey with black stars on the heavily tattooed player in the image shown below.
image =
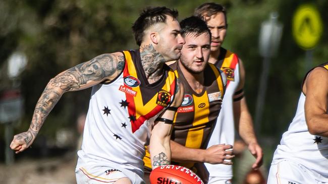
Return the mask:
POLYGON ((144 147, 154 119, 174 100, 176 76, 165 65, 162 77, 149 84, 139 50, 123 54, 122 73, 92 87, 78 156, 84 164, 120 165, 143 178, 144 147))

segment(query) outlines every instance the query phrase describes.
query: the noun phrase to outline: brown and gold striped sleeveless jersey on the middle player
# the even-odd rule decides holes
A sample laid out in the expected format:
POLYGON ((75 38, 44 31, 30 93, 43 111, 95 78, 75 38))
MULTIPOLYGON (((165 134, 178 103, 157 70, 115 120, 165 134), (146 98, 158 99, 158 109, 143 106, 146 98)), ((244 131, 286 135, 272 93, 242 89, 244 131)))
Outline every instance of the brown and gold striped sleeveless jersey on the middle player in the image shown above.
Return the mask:
MULTIPOLYGON (((212 132, 217 116, 221 110, 225 93, 225 76, 213 64, 204 69, 204 88, 200 94, 191 88, 178 62, 170 65, 184 85, 184 99, 174 118, 171 140, 189 148, 206 149, 208 138, 212 132)), ((149 154, 144 158, 145 167, 151 168, 149 154)), ((194 170, 202 178, 205 169, 194 162, 175 163, 194 170)))

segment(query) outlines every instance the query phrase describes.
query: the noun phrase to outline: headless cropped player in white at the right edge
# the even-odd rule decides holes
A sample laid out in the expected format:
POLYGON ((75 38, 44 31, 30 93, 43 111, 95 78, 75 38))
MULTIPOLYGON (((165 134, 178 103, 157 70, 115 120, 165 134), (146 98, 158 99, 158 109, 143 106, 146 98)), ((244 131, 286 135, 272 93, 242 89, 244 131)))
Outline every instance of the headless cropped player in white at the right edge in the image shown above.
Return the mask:
POLYGON ((295 117, 275 151, 267 183, 328 183, 328 63, 305 75, 295 117))

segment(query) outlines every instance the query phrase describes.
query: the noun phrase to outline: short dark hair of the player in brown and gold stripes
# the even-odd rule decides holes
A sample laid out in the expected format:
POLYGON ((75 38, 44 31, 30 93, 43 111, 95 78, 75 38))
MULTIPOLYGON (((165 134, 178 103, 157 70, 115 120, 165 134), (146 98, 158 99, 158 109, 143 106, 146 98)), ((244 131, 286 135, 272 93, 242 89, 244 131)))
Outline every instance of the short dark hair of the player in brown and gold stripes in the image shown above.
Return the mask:
POLYGON ((211 31, 208 29, 206 22, 199 17, 191 16, 180 22, 181 35, 185 37, 188 34, 199 36, 207 33, 211 38, 211 31))

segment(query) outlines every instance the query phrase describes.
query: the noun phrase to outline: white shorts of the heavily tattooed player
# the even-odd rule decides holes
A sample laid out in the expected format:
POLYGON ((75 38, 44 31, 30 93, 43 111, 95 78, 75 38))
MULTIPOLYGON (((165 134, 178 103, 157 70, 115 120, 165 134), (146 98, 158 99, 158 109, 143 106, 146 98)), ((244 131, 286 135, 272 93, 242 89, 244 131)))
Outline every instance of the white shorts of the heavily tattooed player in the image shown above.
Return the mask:
POLYGON ((82 183, 120 183, 131 180, 122 169, 111 166, 84 165, 76 170, 76 181, 82 183))

